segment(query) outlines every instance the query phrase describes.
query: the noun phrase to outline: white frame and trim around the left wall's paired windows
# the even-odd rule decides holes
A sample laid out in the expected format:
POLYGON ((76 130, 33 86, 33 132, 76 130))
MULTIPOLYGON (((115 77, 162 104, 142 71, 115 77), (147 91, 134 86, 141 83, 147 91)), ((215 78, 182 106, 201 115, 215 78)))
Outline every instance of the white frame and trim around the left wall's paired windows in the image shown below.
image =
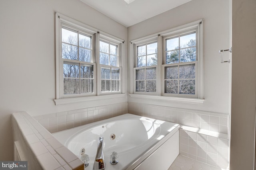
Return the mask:
POLYGON ((55 13, 55 33, 56 33, 56 99, 54 100, 56 105, 64 105, 64 104, 71 104, 71 103, 77 103, 77 102, 86 102, 86 101, 93 101, 93 100, 108 100, 112 98, 123 98, 125 96, 124 91, 124 84, 122 84, 123 81, 121 81, 124 76, 123 73, 120 72, 120 92, 117 93, 108 93, 109 95, 102 95, 100 91, 100 81, 98 81, 100 77, 100 72, 98 72, 99 69, 99 40, 100 37, 109 39, 110 41, 115 41, 120 43, 120 65, 119 67, 123 66, 122 57, 123 55, 123 47, 124 47, 124 40, 117 38, 113 35, 110 35, 108 33, 105 33, 104 31, 100 31, 94 27, 90 27, 89 25, 86 25, 84 23, 81 23, 77 20, 74 20, 72 18, 69 18, 67 16, 64 16, 58 12, 55 13), (87 63, 87 62, 80 62, 75 61, 74 63, 83 63, 83 64, 90 64, 94 67, 94 93, 93 94, 85 94, 85 95, 65 95, 63 93, 63 60, 62 59, 62 25, 65 25, 68 28, 71 29, 79 29, 80 31, 84 33, 89 33, 91 35, 94 35, 94 53, 96 57, 92 59, 93 63, 87 63), (102 96, 100 96, 102 95, 102 96), (113 96, 114 95, 114 96, 113 96), (81 96, 81 97, 80 97, 81 96))

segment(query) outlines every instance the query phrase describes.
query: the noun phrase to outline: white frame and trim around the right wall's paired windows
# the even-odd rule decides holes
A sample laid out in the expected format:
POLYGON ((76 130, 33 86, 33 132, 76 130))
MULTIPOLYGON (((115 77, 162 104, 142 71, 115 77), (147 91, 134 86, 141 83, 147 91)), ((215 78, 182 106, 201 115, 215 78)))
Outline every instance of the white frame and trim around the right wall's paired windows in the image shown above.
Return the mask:
MULTIPOLYGON (((130 41, 130 54, 132 54, 133 56, 130 57, 130 65, 132 65, 133 67, 130 69, 130 75, 131 75, 131 82, 130 82, 130 97, 131 98, 140 98, 140 99, 156 99, 156 100, 164 100, 164 101, 173 101, 173 102, 184 102, 184 103, 191 103, 191 104, 203 104, 204 103, 204 87, 203 87, 203 19, 202 20, 198 20, 198 21, 194 21, 191 23, 187 23, 185 25, 181 25, 178 27, 174 27, 172 29, 168 29, 166 31, 162 31, 159 33, 155 33, 153 35, 148 35, 146 37, 142 37, 139 39, 135 39, 130 41), (195 62, 198 65, 198 70, 196 70, 196 76, 197 76, 197 85, 198 85, 198 93, 195 94, 195 96, 193 96, 194 98, 192 98, 190 95, 186 96, 186 95, 181 95, 181 96, 169 96, 169 95, 165 95, 163 89, 164 86, 164 70, 163 67, 164 65, 164 59, 163 59, 163 48, 162 46, 164 46, 162 44, 163 42, 163 37, 167 36, 167 35, 172 35, 172 34, 177 34, 180 32, 184 32, 184 31, 188 31, 191 29, 197 29, 197 56, 198 59, 195 62), (136 94, 134 93, 134 44, 143 42, 143 41, 150 41, 154 38, 156 38, 158 36, 158 76, 160 77, 160 79, 158 79, 158 86, 161 88, 158 88, 158 94, 157 96, 152 96, 152 95, 142 95, 142 94, 136 94)), ((183 64, 183 63, 182 63, 183 64)), ((188 63, 184 63, 184 64, 188 64, 188 63)))

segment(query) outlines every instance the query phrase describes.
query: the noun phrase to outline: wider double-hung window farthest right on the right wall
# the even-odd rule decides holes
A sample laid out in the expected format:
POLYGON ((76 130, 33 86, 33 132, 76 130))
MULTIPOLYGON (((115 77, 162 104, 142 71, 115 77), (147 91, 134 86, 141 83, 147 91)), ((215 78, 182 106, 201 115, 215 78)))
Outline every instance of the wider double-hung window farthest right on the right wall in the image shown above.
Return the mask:
POLYGON ((197 97, 197 29, 163 37, 165 96, 197 97))

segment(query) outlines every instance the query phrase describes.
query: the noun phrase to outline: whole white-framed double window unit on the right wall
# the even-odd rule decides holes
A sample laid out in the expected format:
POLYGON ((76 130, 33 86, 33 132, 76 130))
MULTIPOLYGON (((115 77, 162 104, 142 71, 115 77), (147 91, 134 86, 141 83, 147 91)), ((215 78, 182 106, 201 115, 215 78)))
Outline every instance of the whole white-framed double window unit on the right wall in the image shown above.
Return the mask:
POLYGON ((131 41, 134 94, 203 98, 202 21, 131 41))

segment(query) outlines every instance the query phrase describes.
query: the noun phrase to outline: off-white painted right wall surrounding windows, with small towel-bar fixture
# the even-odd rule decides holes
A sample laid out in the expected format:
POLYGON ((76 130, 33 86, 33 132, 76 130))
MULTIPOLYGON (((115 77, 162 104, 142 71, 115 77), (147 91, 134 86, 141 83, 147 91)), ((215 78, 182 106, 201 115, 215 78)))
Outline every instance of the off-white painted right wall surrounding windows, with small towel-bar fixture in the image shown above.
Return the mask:
MULTIPOLYGON (((204 19, 204 104, 142 101, 135 98, 128 98, 128 102, 229 113, 229 64, 220 63, 220 54, 218 53, 220 49, 230 48, 228 0, 192 0, 128 27, 128 41, 200 19, 204 19)), ((228 53, 223 55, 224 59, 228 59, 228 53)), ((130 54, 128 56, 130 57, 130 54)), ((128 71, 128 75, 129 73, 128 71)), ((130 89, 129 86, 128 89, 130 89)))

